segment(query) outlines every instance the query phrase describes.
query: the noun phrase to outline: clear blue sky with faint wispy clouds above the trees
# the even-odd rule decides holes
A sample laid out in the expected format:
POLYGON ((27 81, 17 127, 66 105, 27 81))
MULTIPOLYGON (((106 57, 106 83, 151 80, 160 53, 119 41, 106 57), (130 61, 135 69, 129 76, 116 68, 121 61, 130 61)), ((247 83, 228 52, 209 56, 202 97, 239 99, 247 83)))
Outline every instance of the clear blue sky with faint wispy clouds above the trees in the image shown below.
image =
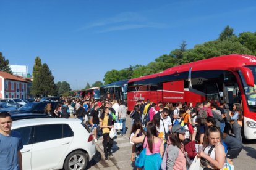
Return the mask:
POLYGON ((36 56, 72 89, 103 81, 106 71, 147 65, 179 48, 256 31, 256 1, 0 0, 0 52, 10 64, 36 56))

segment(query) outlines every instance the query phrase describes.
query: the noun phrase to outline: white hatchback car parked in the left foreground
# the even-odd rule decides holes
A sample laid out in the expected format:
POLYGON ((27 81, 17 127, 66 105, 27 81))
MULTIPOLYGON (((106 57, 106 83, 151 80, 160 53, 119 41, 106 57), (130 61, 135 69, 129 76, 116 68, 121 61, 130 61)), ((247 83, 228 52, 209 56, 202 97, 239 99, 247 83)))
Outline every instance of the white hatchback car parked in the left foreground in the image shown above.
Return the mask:
POLYGON ((85 169, 96 153, 93 136, 79 119, 40 118, 13 121, 24 148, 22 168, 85 169))

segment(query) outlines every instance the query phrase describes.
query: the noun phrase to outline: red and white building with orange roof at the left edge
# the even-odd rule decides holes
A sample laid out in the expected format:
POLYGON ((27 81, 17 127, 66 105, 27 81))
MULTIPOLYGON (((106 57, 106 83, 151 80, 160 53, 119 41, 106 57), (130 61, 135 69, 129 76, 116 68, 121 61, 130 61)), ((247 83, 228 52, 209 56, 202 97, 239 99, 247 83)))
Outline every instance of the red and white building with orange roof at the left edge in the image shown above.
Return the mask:
POLYGON ((0 71, 0 98, 27 98, 27 84, 23 78, 0 71))

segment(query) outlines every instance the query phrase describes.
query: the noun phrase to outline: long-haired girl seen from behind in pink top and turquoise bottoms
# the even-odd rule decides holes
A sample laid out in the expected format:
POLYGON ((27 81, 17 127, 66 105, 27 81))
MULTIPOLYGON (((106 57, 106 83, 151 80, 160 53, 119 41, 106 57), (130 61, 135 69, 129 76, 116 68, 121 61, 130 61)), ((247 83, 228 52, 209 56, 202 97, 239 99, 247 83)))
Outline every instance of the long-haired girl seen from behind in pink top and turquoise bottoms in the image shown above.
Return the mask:
POLYGON ((158 170, 161 167, 162 156, 164 153, 164 145, 162 140, 157 137, 156 126, 153 122, 149 122, 147 124, 147 133, 146 135, 142 135, 137 137, 140 129, 137 129, 134 136, 132 137, 132 142, 135 144, 142 143, 143 148, 146 148, 146 156, 145 156, 145 170, 158 170), (144 140, 145 139, 145 140, 144 140))

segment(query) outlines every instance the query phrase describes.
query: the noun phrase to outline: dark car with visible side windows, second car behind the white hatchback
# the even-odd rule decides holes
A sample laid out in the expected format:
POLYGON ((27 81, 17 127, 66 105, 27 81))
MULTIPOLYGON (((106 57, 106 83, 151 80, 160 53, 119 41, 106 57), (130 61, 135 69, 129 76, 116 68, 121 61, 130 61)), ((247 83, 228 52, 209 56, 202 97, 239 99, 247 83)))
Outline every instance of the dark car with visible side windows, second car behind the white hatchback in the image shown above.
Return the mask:
POLYGON ((55 110, 57 105, 61 102, 34 102, 34 103, 27 103, 20 107, 16 111, 11 111, 11 114, 14 113, 45 113, 45 107, 48 103, 51 103, 51 110, 55 110))

